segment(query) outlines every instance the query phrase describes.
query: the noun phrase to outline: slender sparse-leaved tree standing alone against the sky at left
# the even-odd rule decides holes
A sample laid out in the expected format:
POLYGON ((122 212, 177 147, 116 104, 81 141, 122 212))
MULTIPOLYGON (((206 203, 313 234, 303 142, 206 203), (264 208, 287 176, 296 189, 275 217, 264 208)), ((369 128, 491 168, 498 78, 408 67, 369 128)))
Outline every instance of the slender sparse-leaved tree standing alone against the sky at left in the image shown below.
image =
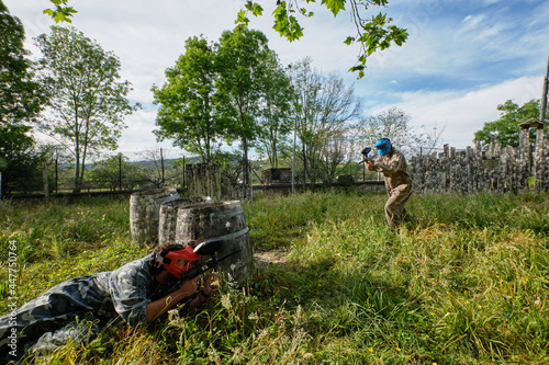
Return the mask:
POLYGON ((76 160, 74 191, 83 181, 86 159, 100 149, 115 149, 124 116, 138 105, 126 99, 128 81, 119 81, 120 60, 74 27, 52 27, 36 45, 43 54, 40 77, 48 107, 41 129, 71 150, 76 160))

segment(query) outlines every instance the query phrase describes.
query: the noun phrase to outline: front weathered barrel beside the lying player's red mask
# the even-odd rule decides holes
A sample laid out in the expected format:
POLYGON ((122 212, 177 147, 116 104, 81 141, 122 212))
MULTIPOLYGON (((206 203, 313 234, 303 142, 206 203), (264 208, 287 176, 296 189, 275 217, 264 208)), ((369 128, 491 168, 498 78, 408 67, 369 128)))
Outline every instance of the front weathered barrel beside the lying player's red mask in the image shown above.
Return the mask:
POLYGON ((202 203, 179 209, 177 242, 194 247, 212 238, 224 240, 223 247, 217 251, 219 258, 240 249, 238 253, 220 262, 220 272, 233 282, 247 278, 253 270, 254 253, 240 202, 202 203))

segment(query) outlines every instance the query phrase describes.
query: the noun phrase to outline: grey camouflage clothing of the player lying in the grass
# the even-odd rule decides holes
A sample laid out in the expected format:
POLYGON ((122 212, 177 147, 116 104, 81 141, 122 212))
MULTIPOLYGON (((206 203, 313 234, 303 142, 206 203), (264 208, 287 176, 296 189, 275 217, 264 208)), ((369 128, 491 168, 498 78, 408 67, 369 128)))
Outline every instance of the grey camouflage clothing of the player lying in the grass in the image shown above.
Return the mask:
MULTIPOLYGON (((36 347, 36 343, 38 347, 53 349, 68 338, 85 341, 90 330, 97 332, 114 319, 122 319, 131 327, 146 324, 147 305, 181 284, 156 283, 149 259, 147 255, 113 272, 60 283, 0 317, 0 362, 21 357, 31 346, 36 347), (79 322, 83 320, 88 333, 81 333, 79 322)), ((181 301, 184 309, 192 297, 181 301)))

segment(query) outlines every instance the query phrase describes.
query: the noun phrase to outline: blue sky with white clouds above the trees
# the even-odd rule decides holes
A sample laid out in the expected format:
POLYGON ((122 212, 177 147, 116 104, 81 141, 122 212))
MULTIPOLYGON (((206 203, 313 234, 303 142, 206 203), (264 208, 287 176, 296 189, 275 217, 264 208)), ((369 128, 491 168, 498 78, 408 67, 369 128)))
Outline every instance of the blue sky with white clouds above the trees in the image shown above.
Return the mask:
MULTIPOLYGON (((312 18, 300 18, 304 36, 295 42, 272 30, 273 0, 257 0, 264 16, 249 27, 264 32, 282 65, 311 57, 323 73, 336 72, 363 103, 368 117, 390 107, 411 116, 416 130, 444 129, 441 142, 457 149, 472 146, 474 133, 498 118, 497 105, 513 100, 522 105, 541 99, 549 53, 547 0, 389 0, 365 14, 388 13, 393 24, 408 31, 402 46, 368 58, 365 78, 347 70, 355 65, 358 45, 350 13, 337 18, 318 4, 305 4, 312 18)), ((42 11, 48 0, 3 0, 21 19, 26 48, 40 57, 33 38, 48 33, 55 22, 42 11)), ((318 1, 320 2, 320 1, 318 1)), ((179 153, 170 140, 157 141, 153 130, 157 105, 150 88, 166 81, 165 70, 184 53, 184 41, 203 35, 216 42, 234 28, 244 0, 70 0, 78 11, 72 26, 96 39, 121 60, 121 77, 133 84, 128 98, 143 109, 126 117, 119 151, 130 153, 165 148, 179 153)), ((63 24, 67 25, 67 24, 63 24)))

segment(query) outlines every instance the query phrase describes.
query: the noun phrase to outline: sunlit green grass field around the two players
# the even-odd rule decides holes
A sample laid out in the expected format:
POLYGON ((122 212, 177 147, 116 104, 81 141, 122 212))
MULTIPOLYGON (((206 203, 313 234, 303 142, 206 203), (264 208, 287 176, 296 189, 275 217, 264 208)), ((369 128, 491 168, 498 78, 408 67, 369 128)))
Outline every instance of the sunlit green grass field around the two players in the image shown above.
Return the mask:
MULTIPOLYGON (((222 285, 187 318, 107 329, 49 364, 549 363, 548 194, 416 195, 397 235, 384 203, 371 193, 243 203, 255 250, 283 250, 284 263, 222 285)), ((22 305, 149 251, 132 243, 128 201, 2 204, 0 230, 0 313, 12 288, 22 305)))

